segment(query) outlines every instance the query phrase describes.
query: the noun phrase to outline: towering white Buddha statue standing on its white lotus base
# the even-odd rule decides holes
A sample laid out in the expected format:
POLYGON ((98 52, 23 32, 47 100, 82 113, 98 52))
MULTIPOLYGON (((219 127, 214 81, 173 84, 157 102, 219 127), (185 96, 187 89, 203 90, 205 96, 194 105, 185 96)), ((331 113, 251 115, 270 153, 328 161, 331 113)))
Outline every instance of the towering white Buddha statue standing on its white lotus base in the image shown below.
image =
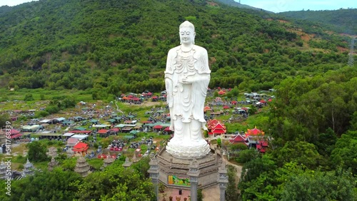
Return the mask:
POLYGON ((210 151, 201 130, 207 130, 203 107, 211 70, 206 49, 194 44, 195 35, 193 24, 183 22, 181 45, 167 56, 165 84, 174 138, 166 151, 176 158, 202 158, 210 151))

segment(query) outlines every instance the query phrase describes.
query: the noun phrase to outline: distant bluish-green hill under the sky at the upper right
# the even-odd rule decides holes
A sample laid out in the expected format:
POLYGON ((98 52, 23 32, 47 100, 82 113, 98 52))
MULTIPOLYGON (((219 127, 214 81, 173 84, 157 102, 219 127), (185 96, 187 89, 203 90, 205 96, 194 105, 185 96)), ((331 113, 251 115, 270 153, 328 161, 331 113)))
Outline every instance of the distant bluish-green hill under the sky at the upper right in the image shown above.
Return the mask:
POLYGON ((278 13, 292 19, 313 21, 328 26, 331 31, 357 35, 357 9, 339 9, 333 11, 288 11, 278 13))

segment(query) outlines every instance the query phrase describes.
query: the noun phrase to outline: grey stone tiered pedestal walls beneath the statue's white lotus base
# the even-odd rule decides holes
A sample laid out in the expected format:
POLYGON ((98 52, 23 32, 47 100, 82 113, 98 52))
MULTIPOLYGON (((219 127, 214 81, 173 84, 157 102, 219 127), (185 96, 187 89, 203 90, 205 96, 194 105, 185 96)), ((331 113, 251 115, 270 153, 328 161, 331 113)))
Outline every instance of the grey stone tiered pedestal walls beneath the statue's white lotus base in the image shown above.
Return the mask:
MULTIPOLYGON (((215 150, 208 149, 202 158, 196 159, 198 164, 198 188, 218 185, 218 168, 221 167, 221 155, 215 150)), ((192 159, 175 158, 166 149, 156 155, 159 160, 159 180, 168 187, 190 189, 189 176, 187 175, 192 159)))

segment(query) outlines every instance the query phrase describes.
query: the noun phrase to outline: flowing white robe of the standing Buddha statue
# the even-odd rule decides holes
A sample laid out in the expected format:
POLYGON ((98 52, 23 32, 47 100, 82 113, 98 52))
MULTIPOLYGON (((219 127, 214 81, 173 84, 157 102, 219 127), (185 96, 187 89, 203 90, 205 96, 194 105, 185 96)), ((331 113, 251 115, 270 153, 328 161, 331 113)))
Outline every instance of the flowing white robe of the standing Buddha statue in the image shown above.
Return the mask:
MULTIPOLYGON (((181 46, 172 48, 167 56, 165 83, 167 101, 171 115, 171 130, 174 120, 191 123, 198 120, 206 128, 203 107, 206 99, 211 70, 208 67, 208 54, 205 48, 194 45, 191 51, 181 51, 181 46), (181 83, 184 77, 190 77, 190 83, 181 83)), ((201 133, 201 130, 199 130, 201 133)), ((186 135, 186 134, 185 134, 186 135)))

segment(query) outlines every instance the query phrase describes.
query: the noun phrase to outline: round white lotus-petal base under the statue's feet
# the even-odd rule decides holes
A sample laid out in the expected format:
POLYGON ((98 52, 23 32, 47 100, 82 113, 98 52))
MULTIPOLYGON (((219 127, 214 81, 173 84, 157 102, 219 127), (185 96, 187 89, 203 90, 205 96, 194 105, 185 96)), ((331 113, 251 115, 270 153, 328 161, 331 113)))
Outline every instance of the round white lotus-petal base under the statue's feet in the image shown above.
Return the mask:
POLYGON ((173 138, 167 143, 166 151, 175 158, 198 159, 205 157, 211 150, 203 139, 198 142, 183 142, 173 138))

